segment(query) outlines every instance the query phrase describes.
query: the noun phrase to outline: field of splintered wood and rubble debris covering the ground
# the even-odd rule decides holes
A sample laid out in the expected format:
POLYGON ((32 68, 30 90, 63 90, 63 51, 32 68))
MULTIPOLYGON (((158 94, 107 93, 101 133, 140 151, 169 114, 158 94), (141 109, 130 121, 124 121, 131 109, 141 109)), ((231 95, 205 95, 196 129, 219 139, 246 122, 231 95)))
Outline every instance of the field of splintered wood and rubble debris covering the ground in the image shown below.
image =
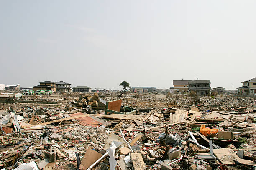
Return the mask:
POLYGON ((0 168, 256 168, 256 98, 119 95, 0 96, 0 168), (113 100, 123 114, 105 114, 113 100))

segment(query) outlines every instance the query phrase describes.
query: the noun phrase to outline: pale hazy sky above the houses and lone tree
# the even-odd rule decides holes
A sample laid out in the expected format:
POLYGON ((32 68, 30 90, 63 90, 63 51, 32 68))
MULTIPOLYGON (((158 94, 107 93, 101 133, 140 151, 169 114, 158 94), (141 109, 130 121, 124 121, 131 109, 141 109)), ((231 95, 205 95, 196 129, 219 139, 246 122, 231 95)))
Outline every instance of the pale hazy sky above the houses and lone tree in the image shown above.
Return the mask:
POLYGON ((121 89, 256 77, 255 0, 0 0, 0 84, 121 89))

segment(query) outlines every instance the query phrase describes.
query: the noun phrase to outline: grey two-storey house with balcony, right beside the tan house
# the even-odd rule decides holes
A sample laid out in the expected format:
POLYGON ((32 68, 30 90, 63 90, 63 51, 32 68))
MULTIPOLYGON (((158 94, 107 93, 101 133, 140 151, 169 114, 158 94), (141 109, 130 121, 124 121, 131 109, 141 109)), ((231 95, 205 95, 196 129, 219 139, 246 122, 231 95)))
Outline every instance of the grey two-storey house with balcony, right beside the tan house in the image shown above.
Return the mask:
POLYGON ((210 80, 189 80, 189 92, 195 91, 199 96, 210 95, 210 80))

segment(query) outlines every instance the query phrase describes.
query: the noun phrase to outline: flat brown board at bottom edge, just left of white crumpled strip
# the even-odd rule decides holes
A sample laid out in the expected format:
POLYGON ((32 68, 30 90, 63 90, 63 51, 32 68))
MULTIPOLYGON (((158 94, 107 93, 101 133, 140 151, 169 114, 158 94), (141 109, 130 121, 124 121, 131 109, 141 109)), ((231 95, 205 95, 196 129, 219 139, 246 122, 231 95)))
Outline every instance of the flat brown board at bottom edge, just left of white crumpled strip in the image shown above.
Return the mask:
POLYGON ((98 153, 95 150, 92 150, 91 148, 88 148, 84 157, 81 160, 79 169, 87 170, 87 168, 89 168, 93 163, 95 163, 100 157, 102 157, 102 154, 98 153))

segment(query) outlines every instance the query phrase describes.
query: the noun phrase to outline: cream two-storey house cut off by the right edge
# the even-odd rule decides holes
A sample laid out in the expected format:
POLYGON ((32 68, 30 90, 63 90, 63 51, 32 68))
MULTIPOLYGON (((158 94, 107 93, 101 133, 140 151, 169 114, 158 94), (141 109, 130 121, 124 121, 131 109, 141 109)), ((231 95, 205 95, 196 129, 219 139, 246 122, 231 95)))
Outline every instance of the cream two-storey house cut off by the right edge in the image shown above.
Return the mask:
POLYGON ((242 87, 237 88, 238 95, 256 95, 256 77, 241 83, 242 87))

